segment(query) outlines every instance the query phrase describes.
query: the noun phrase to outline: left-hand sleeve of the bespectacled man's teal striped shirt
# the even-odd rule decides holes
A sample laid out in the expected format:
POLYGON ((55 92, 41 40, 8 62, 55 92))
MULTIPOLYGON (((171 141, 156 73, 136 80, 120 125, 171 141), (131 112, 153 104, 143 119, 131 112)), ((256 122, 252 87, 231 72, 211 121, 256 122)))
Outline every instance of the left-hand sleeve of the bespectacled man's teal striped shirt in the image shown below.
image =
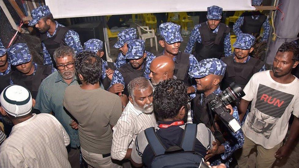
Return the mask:
POLYGON ((34 108, 40 110, 41 113, 50 113, 52 109, 50 107, 50 99, 48 96, 48 91, 45 88, 44 82, 45 81, 43 81, 40 84, 40 88, 38 88, 34 108))

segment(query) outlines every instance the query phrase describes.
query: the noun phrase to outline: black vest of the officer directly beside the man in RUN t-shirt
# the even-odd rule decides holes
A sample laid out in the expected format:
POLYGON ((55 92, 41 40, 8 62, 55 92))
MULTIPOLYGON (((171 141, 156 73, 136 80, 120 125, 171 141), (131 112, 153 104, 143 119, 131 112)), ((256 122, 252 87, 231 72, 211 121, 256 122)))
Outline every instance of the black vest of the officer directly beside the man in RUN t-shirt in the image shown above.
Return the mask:
POLYGON ((227 65, 221 81, 221 90, 229 87, 234 81, 243 89, 252 75, 259 72, 264 65, 264 62, 253 57, 246 63, 235 62, 233 56, 222 57, 221 60, 227 65))

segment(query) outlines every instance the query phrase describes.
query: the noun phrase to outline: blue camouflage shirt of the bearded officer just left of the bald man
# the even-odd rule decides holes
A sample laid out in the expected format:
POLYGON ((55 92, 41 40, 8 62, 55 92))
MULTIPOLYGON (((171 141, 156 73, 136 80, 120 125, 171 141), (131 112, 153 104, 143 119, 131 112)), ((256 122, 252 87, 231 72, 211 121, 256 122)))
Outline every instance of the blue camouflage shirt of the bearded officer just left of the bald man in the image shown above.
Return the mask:
MULTIPOLYGON (((145 71, 144 71, 144 77, 146 77, 147 79, 149 79, 149 73, 150 73, 150 70, 149 70, 149 65, 150 63, 153 61, 154 58, 156 58, 156 56, 154 56, 152 53, 150 52, 146 52, 146 67, 145 67, 145 71)), ((144 65, 142 65, 142 68, 143 68, 144 65)), ((119 72, 118 69, 116 69, 113 73, 113 76, 112 76, 112 80, 111 80, 111 84, 110 84, 110 87, 114 84, 118 84, 118 83, 121 83, 123 84, 124 86, 126 86, 125 84, 125 81, 123 79, 123 75, 119 72)), ((109 88, 110 88, 109 87, 109 88)))

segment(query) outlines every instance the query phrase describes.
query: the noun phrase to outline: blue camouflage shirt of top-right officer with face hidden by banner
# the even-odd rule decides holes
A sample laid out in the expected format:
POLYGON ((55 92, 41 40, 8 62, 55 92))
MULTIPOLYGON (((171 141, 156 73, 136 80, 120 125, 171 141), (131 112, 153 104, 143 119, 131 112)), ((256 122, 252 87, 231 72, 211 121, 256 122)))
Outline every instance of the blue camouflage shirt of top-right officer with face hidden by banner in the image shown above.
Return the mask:
MULTIPOLYGON (((251 16, 252 19, 254 20, 258 20, 259 19, 259 15, 256 15, 256 16, 251 16)), ((238 18, 238 20, 236 21, 236 23, 233 25, 233 32, 238 35, 240 33, 243 33, 242 30, 241 30, 241 26, 243 25, 243 21, 244 21, 244 16, 240 16, 238 18)), ((263 38, 261 39, 261 41, 267 41, 268 40, 268 37, 269 37, 269 32, 270 32, 270 23, 269 23, 269 20, 266 19, 266 21, 263 23, 262 27, 264 28, 264 31, 263 31, 263 38)))

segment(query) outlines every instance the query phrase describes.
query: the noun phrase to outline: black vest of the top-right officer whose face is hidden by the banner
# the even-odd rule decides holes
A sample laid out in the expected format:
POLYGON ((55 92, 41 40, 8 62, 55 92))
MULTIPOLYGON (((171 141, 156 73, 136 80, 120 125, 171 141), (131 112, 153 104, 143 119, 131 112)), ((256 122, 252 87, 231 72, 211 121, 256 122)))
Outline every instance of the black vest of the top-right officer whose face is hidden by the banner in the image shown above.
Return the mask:
POLYGON ((243 33, 251 34, 255 37, 259 36, 263 23, 266 21, 267 17, 262 13, 258 12, 254 15, 259 15, 259 19, 252 19, 252 12, 245 12, 242 14, 244 16, 244 21, 240 27, 243 33))

